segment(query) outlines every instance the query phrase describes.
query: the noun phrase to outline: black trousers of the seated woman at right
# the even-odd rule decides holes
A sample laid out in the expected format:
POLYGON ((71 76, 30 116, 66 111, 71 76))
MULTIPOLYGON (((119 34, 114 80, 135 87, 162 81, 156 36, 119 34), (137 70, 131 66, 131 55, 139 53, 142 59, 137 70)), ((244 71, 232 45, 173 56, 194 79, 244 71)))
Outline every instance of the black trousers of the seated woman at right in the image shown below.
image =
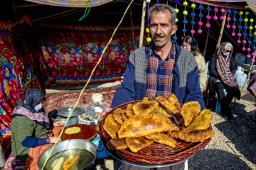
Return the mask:
POLYGON ((228 109, 229 104, 231 103, 232 99, 235 96, 235 87, 230 87, 230 86, 225 86, 221 82, 216 82, 215 83, 215 90, 218 94, 218 100, 220 101, 220 106, 223 109, 228 109), (223 89, 226 89, 228 94, 225 96, 223 89))

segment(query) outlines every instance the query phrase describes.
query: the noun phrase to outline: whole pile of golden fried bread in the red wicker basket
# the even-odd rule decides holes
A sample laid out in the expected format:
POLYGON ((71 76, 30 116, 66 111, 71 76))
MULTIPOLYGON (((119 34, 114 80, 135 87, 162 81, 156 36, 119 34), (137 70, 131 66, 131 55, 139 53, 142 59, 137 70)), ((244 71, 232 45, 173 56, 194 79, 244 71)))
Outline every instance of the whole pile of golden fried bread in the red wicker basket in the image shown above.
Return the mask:
POLYGON ((143 98, 134 105, 129 103, 125 110, 117 108, 107 115, 103 128, 112 138, 107 142, 109 149, 129 148, 132 152, 138 152, 154 142, 176 147, 176 140, 203 142, 215 135, 210 128, 211 112, 208 109, 201 111, 198 101, 184 103, 181 107, 174 94, 156 99, 174 113, 181 113, 185 127, 178 128, 172 122, 171 115, 160 108, 157 101, 143 98))

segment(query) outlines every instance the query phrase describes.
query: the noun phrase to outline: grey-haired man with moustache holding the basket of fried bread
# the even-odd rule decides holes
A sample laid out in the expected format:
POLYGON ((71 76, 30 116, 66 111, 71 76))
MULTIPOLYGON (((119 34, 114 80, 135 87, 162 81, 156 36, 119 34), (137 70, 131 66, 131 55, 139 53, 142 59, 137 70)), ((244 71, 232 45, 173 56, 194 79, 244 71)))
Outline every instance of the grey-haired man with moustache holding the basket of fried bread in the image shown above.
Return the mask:
MULTIPOLYGON (((148 11, 149 31, 153 42, 134 50, 129 57, 122 86, 114 94, 111 108, 143 97, 175 94, 180 103, 198 101, 205 108, 203 94, 198 81, 195 57, 171 40, 177 30, 176 12, 166 4, 155 4, 148 11)), ((144 169, 122 164, 122 169, 144 169)), ((162 169, 184 169, 184 164, 162 169)))

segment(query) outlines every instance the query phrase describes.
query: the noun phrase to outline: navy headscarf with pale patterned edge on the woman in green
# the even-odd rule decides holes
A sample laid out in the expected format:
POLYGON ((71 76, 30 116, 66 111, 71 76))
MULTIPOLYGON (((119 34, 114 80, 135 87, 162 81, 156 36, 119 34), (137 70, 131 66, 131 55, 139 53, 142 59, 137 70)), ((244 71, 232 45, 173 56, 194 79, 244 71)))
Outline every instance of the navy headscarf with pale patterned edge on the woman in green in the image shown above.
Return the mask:
POLYGON ((45 98, 43 91, 39 89, 28 89, 25 94, 25 101, 21 101, 21 103, 18 103, 18 106, 14 108, 14 114, 11 115, 11 119, 16 116, 26 116, 38 123, 38 125, 50 128, 49 118, 46 113, 35 110, 36 104, 43 98, 45 98), (30 112, 28 113, 26 110, 21 111, 20 108, 26 108, 30 112))

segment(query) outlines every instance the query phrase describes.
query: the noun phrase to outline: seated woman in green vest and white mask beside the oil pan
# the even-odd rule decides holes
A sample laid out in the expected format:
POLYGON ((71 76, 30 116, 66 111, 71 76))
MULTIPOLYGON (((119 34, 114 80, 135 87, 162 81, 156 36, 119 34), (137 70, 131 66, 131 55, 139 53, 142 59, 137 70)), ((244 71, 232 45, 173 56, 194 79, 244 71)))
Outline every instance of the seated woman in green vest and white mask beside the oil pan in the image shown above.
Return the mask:
POLYGON ((43 91, 28 89, 25 100, 14 108, 11 115, 12 154, 16 159, 26 161, 28 169, 38 169, 38 157, 56 142, 64 126, 63 122, 50 122, 48 115, 43 113, 45 99, 43 91))

